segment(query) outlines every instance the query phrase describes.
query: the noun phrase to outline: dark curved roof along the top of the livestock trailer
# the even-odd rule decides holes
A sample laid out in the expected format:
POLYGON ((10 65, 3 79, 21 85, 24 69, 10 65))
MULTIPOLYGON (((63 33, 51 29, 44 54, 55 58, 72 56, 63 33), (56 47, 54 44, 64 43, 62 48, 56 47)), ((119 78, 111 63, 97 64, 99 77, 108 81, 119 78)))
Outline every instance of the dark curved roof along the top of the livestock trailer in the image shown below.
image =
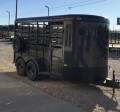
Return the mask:
POLYGON ((84 15, 84 14, 70 14, 70 15, 56 15, 56 16, 44 16, 44 17, 29 17, 18 18, 15 22, 29 22, 29 21, 53 21, 53 20, 84 20, 84 21, 97 21, 97 22, 109 22, 106 17, 97 15, 84 15))

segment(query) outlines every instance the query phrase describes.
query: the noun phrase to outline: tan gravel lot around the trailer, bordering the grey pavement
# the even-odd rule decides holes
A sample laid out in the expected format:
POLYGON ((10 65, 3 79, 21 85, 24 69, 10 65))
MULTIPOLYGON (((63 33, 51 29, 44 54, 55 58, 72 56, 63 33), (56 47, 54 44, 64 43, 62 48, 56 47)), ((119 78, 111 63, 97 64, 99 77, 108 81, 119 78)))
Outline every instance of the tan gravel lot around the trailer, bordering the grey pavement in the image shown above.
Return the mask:
MULTIPOLYGON (((109 54, 109 66, 120 75, 120 54, 109 54)), ((13 64, 12 43, 9 40, 0 39, 0 72, 30 84, 50 95, 62 99, 70 104, 78 106, 87 112, 120 112, 120 90, 102 86, 88 85, 80 82, 61 81, 43 78, 38 81, 30 81, 27 77, 20 77, 16 73, 13 64)), ((109 74, 112 69, 109 70, 109 74)), ((120 79, 120 78, 119 78, 120 79)))

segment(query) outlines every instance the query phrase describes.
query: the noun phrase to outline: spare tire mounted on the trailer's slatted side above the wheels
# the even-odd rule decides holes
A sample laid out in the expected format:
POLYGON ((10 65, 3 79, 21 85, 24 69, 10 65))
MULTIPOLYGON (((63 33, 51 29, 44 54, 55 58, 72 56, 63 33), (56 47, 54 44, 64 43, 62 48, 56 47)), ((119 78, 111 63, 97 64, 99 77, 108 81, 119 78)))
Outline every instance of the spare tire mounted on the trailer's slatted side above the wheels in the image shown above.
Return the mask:
POLYGON ((24 41, 21 37, 13 39, 13 49, 15 52, 21 52, 24 49, 24 41))

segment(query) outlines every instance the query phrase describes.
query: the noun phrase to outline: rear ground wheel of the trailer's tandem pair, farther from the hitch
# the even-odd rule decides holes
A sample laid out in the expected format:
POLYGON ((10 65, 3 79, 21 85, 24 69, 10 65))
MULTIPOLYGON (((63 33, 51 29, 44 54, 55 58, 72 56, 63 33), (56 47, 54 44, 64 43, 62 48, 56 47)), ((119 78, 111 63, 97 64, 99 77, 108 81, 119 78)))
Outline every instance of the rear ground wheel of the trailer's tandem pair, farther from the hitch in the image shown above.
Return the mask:
POLYGON ((20 76, 25 76, 26 75, 26 64, 25 61, 22 58, 19 58, 16 61, 16 69, 17 69, 17 73, 20 76))

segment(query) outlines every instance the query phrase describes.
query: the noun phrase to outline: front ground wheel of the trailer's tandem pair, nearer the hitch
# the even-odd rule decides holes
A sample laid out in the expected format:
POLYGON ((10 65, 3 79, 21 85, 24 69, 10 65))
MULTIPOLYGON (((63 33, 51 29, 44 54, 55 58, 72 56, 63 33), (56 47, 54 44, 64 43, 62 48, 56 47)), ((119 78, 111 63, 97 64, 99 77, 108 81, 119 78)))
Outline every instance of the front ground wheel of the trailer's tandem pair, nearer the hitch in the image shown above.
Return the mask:
POLYGON ((29 61, 26 66, 26 74, 32 81, 38 79, 38 69, 34 61, 29 61))

